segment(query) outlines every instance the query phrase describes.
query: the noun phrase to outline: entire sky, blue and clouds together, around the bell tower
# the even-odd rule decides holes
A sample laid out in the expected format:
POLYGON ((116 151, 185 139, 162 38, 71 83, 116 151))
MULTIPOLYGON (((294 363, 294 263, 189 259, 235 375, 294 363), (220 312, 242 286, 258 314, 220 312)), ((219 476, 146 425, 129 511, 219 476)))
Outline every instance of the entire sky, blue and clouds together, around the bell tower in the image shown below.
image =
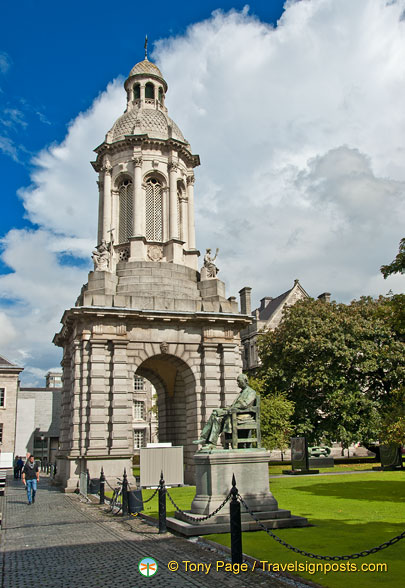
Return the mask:
POLYGON ((300 281, 338 301, 384 281, 405 223, 405 0, 4 3, 0 45, 0 354, 26 384, 91 269, 90 166, 151 58, 201 157, 197 246, 253 305, 300 281))

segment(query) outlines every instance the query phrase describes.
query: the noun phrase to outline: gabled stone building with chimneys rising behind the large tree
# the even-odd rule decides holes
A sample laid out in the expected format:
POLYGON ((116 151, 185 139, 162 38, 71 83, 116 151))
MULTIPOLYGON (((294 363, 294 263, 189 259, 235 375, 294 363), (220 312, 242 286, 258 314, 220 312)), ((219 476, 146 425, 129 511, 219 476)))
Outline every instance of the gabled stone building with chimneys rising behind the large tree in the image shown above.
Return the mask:
MULTIPOLYGON (((243 369, 254 370, 259 366, 260 360, 257 353, 257 335, 263 330, 274 330, 278 327, 283 317, 284 308, 292 306, 299 300, 309 298, 309 294, 301 286, 299 280, 294 280, 292 288, 283 292, 276 298, 266 296, 260 301, 259 308, 251 310, 251 288, 242 288, 239 292, 242 312, 251 314, 253 322, 241 331, 243 348, 243 369)), ((329 292, 318 296, 320 300, 330 301, 329 292)))

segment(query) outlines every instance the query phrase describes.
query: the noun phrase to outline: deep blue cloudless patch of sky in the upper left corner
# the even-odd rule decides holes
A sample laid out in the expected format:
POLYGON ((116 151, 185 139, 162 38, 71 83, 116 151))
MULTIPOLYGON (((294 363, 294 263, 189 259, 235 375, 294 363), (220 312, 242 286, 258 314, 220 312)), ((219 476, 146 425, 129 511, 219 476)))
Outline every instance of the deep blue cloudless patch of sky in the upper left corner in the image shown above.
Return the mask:
MULTIPOLYGON (((254 2, 251 11, 275 23, 283 4, 254 2)), ((109 81, 125 76, 142 59, 145 34, 153 50, 156 40, 184 34, 190 24, 208 18, 213 10, 241 10, 244 5, 207 0, 3 3, 0 134, 10 141, 11 151, 0 155, 4 182, 0 235, 11 227, 29 225, 17 190, 30 182, 32 156, 62 140, 69 121, 87 110, 109 81)))

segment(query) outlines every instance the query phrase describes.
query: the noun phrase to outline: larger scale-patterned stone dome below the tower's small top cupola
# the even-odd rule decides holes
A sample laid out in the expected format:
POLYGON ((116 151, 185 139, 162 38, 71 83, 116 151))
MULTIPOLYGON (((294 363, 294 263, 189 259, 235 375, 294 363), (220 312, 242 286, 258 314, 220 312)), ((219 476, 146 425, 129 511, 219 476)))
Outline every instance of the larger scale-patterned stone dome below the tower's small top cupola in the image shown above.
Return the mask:
POLYGON ((173 139, 186 143, 183 133, 167 114, 160 110, 149 108, 134 108, 125 112, 114 123, 110 132, 112 133, 112 141, 118 141, 120 138, 123 138, 124 135, 147 134, 154 139, 168 139, 169 137, 172 137, 173 139))

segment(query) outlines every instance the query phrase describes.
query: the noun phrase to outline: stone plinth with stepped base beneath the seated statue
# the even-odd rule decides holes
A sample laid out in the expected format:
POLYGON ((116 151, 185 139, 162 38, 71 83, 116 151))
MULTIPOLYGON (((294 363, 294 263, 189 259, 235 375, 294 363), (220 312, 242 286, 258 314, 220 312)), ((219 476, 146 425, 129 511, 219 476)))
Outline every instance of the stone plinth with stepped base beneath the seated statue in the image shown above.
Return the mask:
MULTIPOLYGON (((210 449, 194 455, 196 495, 191 504, 191 516, 212 513, 220 506, 232 486, 235 475, 239 494, 266 528, 304 527, 304 517, 291 515, 280 509, 269 489, 270 453, 265 449, 210 449)), ((255 531, 260 527, 241 505, 242 530, 255 531)), ((193 523, 181 513, 167 519, 167 526, 183 535, 229 533, 229 505, 210 519, 193 523)))

